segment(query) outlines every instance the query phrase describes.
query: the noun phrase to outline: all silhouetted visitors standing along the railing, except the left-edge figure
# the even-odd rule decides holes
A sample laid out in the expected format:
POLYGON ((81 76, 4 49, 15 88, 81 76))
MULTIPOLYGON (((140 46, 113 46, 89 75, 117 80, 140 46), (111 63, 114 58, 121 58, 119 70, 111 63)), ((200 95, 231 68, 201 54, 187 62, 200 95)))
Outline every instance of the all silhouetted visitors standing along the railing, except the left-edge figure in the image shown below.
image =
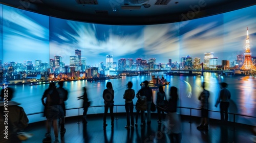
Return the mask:
MULTIPOLYGON (((50 83, 50 86, 45 90, 44 95, 41 98, 42 104, 45 106, 44 115, 47 118, 46 126, 47 133, 44 142, 51 141, 51 122, 53 123, 55 142, 58 142, 58 119, 60 119, 60 133, 65 133, 65 116, 66 108, 65 101, 68 99, 68 91, 63 88, 63 82, 59 82, 59 87, 56 88, 54 83, 50 83), (46 101, 44 100, 46 98, 46 101)), ((134 126, 138 127, 138 115, 141 114, 141 127, 145 125, 147 120, 147 125, 151 124, 151 104, 153 102, 152 89, 148 87, 148 81, 144 81, 142 88, 135 94, 135 90, 132 89, 133 83, 129 81, 126 85, 127 89, 124 91, 123 99, 125 100, 125 111, 126 111, 126 125, 124 126, 127 130, 133 129, 134 126), (136 102, 136 117, 134 122, 134 103, 133 99, 137 98, 136 102), (145 117, 145 111, 147 111, 145 117)), ((230 100, 230 92, 227 87, 227 83, 221 83, 221 91, 219 98, 216 103, 216 107, 220 103, 221 109, 221 121, 228 121, 228 107, 230 100), (225 114, 224 114, 225 112, 225 114), (225 118, 224 118, 225 115, 225 118)), ((208 98, 209 91, 205 89, 205 83, 202 83, 203 91, 199 96, 201 101, 201 117, 202 122, 197 129, 208 129, 208 98)), ((87 96, 86 87, 83 87, 84 93, 82 96, 78 97, 78 100, 83 100, 83 123, 87 124, 87 111, 90 106, 90 102, 87 96)), ((104 100, 104 115, 103 115, 103 128, 105 129, 108 124, 106 124, 106 116, 110 110, 111 116, 111 128, 114 128, 114 90, 111 82, 106 83, 106 89, 104 89, 102 98, 104 100)), ((169 96, 167 97, 163 86, 159 86, 159 91, 157 92, 157 113, 158 113, 158 124, 162 124, 162 118, 164 118, 164 112, 167 112, 166 119, 168 128, 171 128, 170 137, 176 142, 181 141, 181 123, 180 117, 177 114, 177 101, 178 101, 178 89, 174 86, 170 87, 169 96)))

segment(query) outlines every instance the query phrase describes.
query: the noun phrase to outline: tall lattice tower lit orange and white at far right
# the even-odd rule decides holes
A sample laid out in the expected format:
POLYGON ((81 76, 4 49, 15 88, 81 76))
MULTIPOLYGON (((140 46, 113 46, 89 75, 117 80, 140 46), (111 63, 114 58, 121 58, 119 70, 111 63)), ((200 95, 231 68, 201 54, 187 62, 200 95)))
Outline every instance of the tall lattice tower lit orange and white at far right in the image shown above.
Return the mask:
POLYGON ((248 35, 248 27, 247 27, 247 37, 246 37, 246 45, 245 45, 245 53, 244 53, 244 64, 240 69, 256 70, 256 67, 253 65, 252 60, 251 60, 250 40, 249 40, 249 35, 248 35))

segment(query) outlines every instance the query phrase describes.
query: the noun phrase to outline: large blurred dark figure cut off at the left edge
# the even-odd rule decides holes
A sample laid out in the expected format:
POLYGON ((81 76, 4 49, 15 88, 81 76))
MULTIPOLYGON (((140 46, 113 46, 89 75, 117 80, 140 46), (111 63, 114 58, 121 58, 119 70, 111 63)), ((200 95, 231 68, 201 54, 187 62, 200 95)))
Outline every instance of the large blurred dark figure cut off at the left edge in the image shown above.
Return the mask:
POLYGON ((11 101, 13 89, 3 87, 0 102, 0 142, 22 142, 17 137, 17 132, 28 126, 29 120, 24 109, 17 102, 11 101), (6 106, 5 106, 6 105, 6 106), (8 111, 8 112, 7 112, 8 111))

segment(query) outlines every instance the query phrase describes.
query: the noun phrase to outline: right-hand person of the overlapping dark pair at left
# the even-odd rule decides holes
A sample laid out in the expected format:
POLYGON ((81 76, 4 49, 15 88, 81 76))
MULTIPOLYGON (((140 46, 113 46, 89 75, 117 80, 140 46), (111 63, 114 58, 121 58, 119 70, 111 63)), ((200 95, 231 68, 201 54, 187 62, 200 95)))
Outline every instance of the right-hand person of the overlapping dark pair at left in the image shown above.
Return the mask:
POLYGON ((66 116, 66 106, 65 101, 68 100, 68 90, 63 88, 63 81, 58 82, 59 87, 57 88, 57 91, 59 93, 60 98, 60 105, 63 109, 64 116, 60 118, 60 133, 65 134, 65 116, 66 116))

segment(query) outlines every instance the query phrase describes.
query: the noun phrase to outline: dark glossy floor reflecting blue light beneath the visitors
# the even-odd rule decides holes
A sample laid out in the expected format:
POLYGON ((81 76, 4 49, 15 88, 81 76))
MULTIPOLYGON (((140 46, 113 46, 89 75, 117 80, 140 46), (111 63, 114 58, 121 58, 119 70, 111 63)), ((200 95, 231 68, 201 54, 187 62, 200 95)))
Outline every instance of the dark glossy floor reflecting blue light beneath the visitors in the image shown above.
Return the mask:
MULTIPOLYGON (((152 115, 150 126, 146 125, 144 128, 138 126, 134 130, 124 128, 126 125, 125 114, 118 114, 116 117, 118 119, 115 119, 113 130, 111 130, 110 116, 107 118, 109 125, 105 130, 102 127, 102 114, 89 115, 87 126, 79 123, 81 121, 79 117, 67 117, 65 125, 67 131, 62 142, 170 142, 169 135, 161 130, 161 126, 158 126, 156 114, 152 115)), ((183 130, 181 142, 253 142, 251 126, 243 124, 233 126, 232 123, 220 125, 218 121, 211 120, 209 130, 200 131, 197 130, 200 118, 191 118, 192 124, 189 123, 189 116, 181 116, 181 120, 183 130)), ((33 133, 33 137, 24 142, 42 142, 46 133, 45 122, 32 123, 25 132, 33 133)), ((54 140, 53 128, 52 140, 54 140)), ((60 135, 59 142, 61 142, 60 135)))

